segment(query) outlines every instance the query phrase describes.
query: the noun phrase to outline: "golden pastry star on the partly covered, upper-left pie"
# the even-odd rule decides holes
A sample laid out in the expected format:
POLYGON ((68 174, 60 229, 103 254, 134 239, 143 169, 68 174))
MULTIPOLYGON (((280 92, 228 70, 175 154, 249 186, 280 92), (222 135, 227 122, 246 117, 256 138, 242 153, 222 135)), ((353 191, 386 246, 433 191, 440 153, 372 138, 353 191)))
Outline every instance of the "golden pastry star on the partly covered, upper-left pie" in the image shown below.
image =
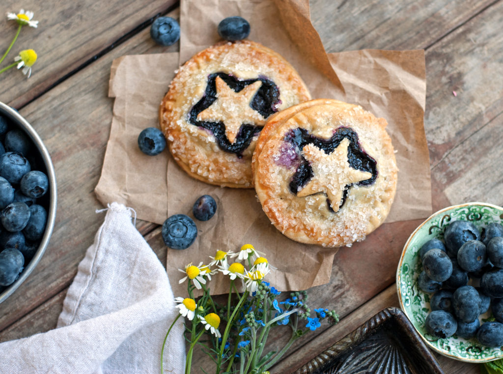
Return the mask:
POLYGON ((242 124, 263 125, 266 119, 250 107, 251 100, 262 86, 261 81, 246 86, 235 92, 217 76, 215 79, 217 99, 197 115, 198 121, 223 122, 225 135, 230 143, 234 143, 242 124))

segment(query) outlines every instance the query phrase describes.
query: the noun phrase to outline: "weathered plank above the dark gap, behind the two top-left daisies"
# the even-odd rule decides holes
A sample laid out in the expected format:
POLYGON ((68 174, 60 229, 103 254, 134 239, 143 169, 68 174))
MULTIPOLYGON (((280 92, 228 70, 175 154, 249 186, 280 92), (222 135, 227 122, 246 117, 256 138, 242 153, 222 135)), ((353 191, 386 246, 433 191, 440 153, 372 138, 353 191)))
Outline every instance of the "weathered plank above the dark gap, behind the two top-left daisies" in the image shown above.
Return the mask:
MULTIPOLYGON (((145 23, 144 27, 148 27, 153 17, 166 13, 177 3, 176 0, 32 2, 28 10, 35 13, 34 20, 39 20, 38 28, 23 27, 2 66, 7 66, 7 61, 13 61, 22 49, 34 49, 38 59, 29 80, 20 71, 10 70, 2 74, 0 101, 15 108, 22 107, 82 63, 99 55, 104 48, 115 47, 122 37, 136 32, 141 24, 145 23)), ((4 0, 2 10, 17 13, 19 4, 14 0, 4 0)), ((16 34, 17 24, 2 17, 0 30, 0 53, 3 54, 16 34)), ((152 40, 144 42, 154 46, 152 40)))

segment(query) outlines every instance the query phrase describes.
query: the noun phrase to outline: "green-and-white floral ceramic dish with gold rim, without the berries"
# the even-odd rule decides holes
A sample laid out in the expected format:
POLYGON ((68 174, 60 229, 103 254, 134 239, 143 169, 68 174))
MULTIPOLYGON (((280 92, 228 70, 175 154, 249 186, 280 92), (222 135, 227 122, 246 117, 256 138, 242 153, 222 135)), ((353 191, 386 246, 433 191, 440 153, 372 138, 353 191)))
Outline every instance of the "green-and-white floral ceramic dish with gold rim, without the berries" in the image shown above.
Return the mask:
MULTIPOLYGON (((426 332, 425 320, 431 311, 430 294, 423 292, 417 285, 417 277, 422 271, 419 250, 430 239, 443 239, 445 227, 455 220, 468 220, 477 228, 483 229, 490 222, 503 221, 503 208, 482 202, 470 202, 439 210, 421 223, 405 243, 396 272, 400 308, 426 344, 444 356, 478 363, 503 358, 501 347, 487 347, 478 343, 475 338, 463 339, 453 335, 441 339, 426 332)), ((482 315, 480 318, 484 317, 487 316, 482 315)))

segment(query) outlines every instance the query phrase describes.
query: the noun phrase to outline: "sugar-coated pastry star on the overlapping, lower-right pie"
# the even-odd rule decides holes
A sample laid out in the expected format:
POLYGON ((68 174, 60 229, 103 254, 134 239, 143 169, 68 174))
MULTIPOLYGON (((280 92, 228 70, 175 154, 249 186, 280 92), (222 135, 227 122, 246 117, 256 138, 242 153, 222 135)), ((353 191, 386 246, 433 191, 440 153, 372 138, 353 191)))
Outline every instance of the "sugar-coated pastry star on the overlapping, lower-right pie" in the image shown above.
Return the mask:
POLYGON ((304 158, 313 171, 311 180, 297 192, 303 197, 317 192, 325 192, 330 199, 330 207, 338 211, 341 205, 344 188, 372 177, 372 173, 353 169, 348 160, 348 138, 344 138, 339 146, 329 155, 323 149, 312 143, 302 148, 304 158))

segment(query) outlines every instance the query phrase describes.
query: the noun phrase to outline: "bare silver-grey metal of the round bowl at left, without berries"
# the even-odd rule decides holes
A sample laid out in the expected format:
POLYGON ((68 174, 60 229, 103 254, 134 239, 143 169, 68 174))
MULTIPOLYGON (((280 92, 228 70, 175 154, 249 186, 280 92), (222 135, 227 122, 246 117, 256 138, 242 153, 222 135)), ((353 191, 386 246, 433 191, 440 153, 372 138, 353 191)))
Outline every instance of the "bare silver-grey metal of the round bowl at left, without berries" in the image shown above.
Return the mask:
POLYGON ((56 192, 56 177, 54 174, 54 167, 52 165, 51 157, 47 152, 44 143, 40 139, 40 136, 28 123, 28 121, 24 119, 16 110, 1 102, 0 102, 0 115, 8 119, 11 125, 17 126, 18 128, 22 129, 26 133, 26 135, 28 135, 28 137, 33 141, 33 144, 35 145, 38 152, 38 155, 36 156, 38 157, 39 160, 43 162, 39 165, 38 169, 46 173, 47 178, 49 179, 48 193, 45 196, 43 196, 43 198, 41 198, 40 202, 37 200, 37 203, 44 206, 44 208, 46 208, 47 210, 47 223, 45 226, 44 235, 42 236, 40 245, 36 250, 35 254, 33 255, 33 258, 28 263, 25 263, 24 265, 25 267, 21 272, 21 274, 19 275, 18 279, 16 279, 16 281, 14 281, 14 283, 12 283, 11 285, 6 286, 5 289, 0 290, 0 303, 2 303, 4 300, 6 300, 7 297, 9 297, 16 290, 16 288, 18 288, 21 285, 21 283, 24 282, 24 280, 28 277, 28 275, 30 275, 30 273, 33 271, 35 266, 37 266, 38 262, 42 258, 42 255, 44 254, 45 249, 49 244, 52 230, 54 228, 54 220, 56 217, 57 192, 56 192))

